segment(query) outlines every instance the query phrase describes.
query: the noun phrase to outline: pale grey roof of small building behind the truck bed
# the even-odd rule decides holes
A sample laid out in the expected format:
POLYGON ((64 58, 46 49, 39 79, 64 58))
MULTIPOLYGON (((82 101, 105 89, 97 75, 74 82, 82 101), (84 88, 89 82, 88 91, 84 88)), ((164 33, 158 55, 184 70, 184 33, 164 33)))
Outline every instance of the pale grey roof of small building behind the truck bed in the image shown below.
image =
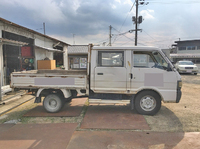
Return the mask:
POLYGON ((71 45, 67 50, 68 54, 88 54, 88 45, 71 45))

